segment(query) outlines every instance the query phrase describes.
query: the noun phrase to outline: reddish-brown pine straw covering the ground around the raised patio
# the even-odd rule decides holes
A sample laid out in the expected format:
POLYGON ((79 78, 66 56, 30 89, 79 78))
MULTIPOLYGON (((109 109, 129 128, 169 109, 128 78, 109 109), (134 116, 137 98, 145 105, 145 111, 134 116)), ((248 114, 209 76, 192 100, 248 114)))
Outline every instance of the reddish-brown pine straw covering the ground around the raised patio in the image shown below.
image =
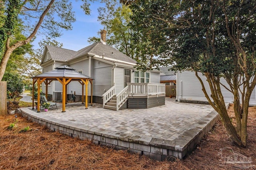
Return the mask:
MULTIPOLYGON (((232 108, 229 109, 229 113, 234 117, 232 108)), ((17 119, 18 121, 15 115, 0 116, 0 169, 232 169, 220 166, 223 160, 218 152, 224 147, 231 147, 234 151, 251 157, 252 164, 256 165, 256 107, 250 107, 246 149, 232 145, 219 121, 190 156, 173 162, 159 162, 138 154, 100 147, 90 141, 81 141, 52 132, 27 121, 21 115, 18 115, 17 119), (15 121, 15 126, 8 129, 15 121), (28 126, 28 131, 20 132, 28 126)))

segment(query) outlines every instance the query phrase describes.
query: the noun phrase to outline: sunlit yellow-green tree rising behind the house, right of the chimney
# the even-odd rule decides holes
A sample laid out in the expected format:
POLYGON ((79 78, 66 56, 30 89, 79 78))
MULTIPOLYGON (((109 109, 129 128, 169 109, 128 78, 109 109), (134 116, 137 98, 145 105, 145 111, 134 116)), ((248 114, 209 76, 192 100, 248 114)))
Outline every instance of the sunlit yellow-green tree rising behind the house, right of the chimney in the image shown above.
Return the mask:
MULTIPOLYGON (((106 3, 106 7, 98 8, 98 21, 107 31, 107 43, 134 59, 134 48, 131 40, 132 31, 128 25, 132 15, 130 8, 112 0, 102 0, 102 2, 106 3)), ((88 42, 95 43, 99 40, 97 37, 90 37, 88 42)))

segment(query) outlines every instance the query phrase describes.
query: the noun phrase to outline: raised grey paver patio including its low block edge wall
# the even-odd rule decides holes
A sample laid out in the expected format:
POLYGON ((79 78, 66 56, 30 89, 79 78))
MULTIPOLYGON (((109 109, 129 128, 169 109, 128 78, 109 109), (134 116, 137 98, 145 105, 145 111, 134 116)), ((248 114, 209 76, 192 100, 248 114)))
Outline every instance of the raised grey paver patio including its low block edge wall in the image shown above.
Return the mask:
POLYGON ((149 109, 113 111, 95 103, 84 109, 79 102, 66 104, 64 113, 61 109, 36 113, 32 107, 21 108, 21 112, 53 131, 157 160, 183 158, 192 152, 219 118, 210 105, 179 103, 170 98, 165 105, 149 109))

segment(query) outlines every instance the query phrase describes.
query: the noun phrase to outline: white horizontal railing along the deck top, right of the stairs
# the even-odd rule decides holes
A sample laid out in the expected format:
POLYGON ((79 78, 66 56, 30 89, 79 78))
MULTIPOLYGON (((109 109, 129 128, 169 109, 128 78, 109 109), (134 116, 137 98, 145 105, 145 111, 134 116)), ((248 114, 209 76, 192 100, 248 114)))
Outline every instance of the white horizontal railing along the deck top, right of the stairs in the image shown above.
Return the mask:
POLYGON ((165 84, 160 83, 127 83, 129 95, 165 94, 165 84))

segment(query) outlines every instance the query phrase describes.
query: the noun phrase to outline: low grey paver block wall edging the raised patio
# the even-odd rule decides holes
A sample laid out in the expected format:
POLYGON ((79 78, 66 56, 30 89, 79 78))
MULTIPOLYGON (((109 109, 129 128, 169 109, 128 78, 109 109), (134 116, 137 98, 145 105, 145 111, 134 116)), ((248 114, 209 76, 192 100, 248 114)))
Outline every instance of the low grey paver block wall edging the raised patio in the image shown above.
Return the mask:
MULTIPOLYGON (((59 133, 69 135, 70 137, 78 137, 81 140, 88 139, 96 145, 102 145, 112 149, 128 150, 128 152, 144 154, 145 156, 156 160, 173 160, 174 157, 183 158, 190 154, 204 135, 211 130, 214 123, 220 118, 219 115, 210 113, 208 117, 206 116, 205 119, 202 119, 202 122, 205 124, 200 124, 204 127, 199 133, 193 131, 193 129, 190 130, 191 133, 196 134, 194 137, 186 139, 188 141, 184 141, 182 136, 180 136, 180 139, 170 141, 63 121, 36 113, 28 108, 21 108, 20 111, 23 117, 27 117, 29 120, 37 122, 40 125, 45 125, 52 131, 58 131, 59 133)), ((198 126, 200 125, 198 124, 198 126)))

